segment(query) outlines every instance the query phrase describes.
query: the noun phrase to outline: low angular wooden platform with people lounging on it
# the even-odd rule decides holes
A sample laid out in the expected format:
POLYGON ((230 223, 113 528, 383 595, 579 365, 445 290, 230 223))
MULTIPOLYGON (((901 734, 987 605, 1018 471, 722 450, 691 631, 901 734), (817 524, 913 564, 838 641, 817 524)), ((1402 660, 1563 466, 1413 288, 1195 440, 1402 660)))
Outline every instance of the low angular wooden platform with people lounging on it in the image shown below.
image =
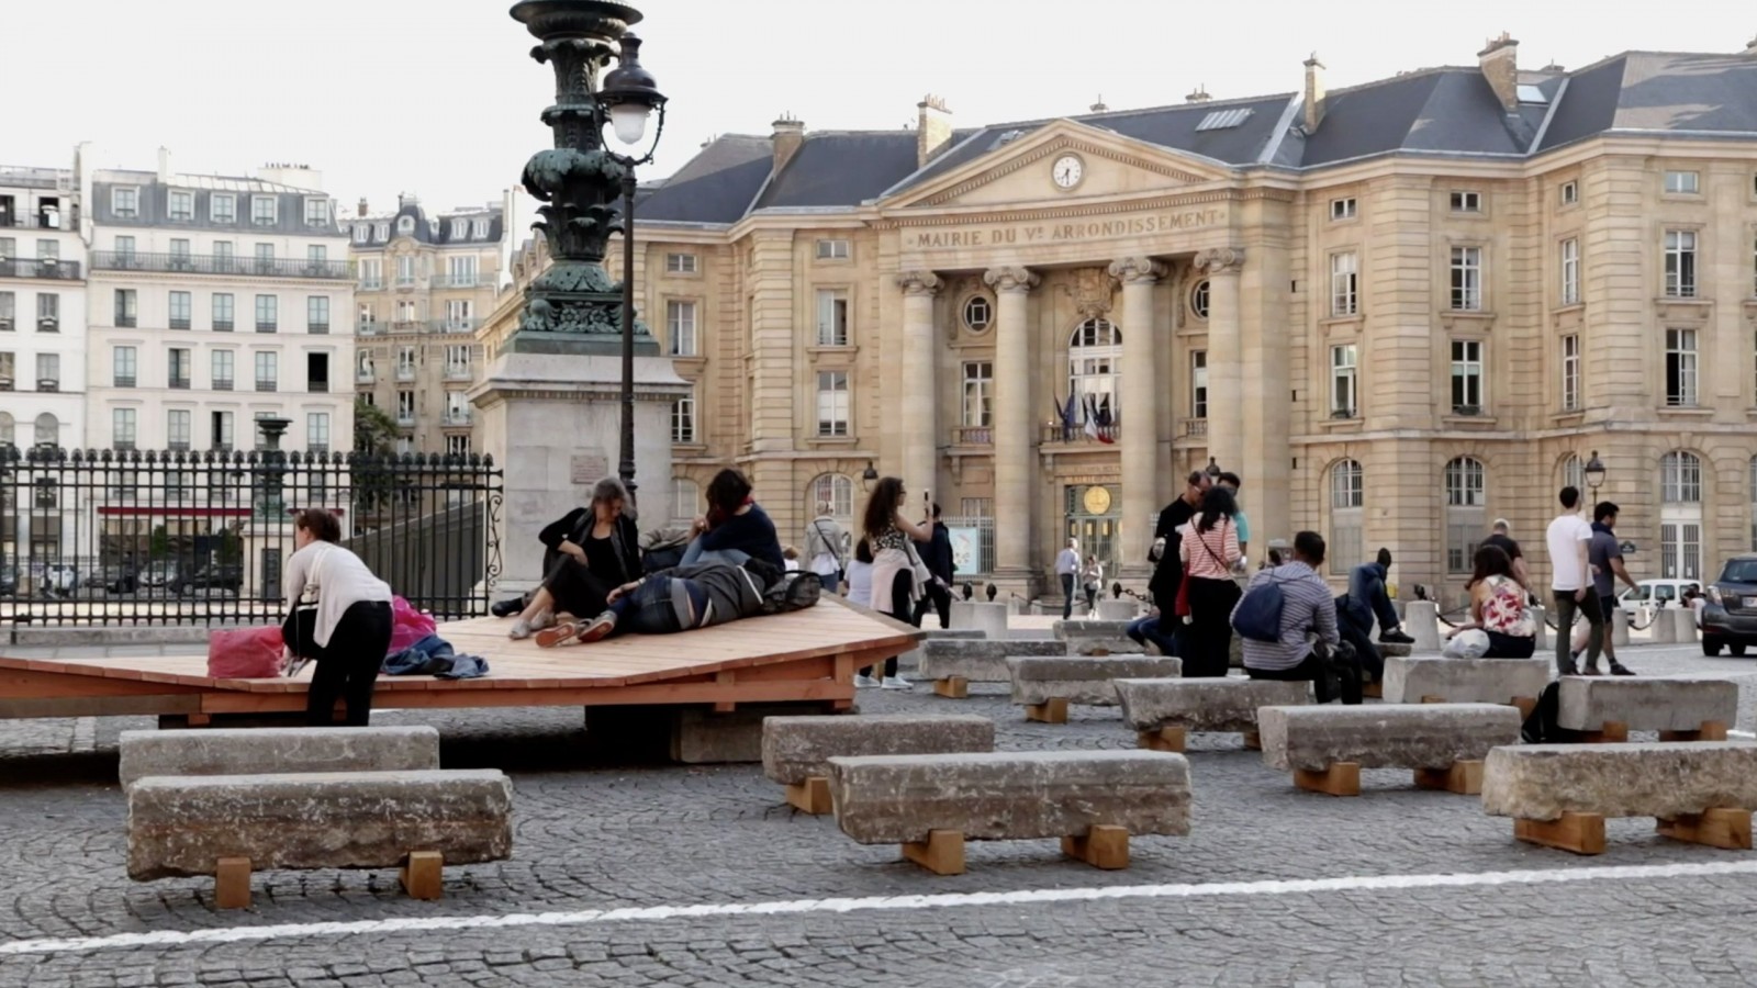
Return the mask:
MULTIPOLYGON (((374 707, 594 707, 634 703, 822 701, 854 705, 854 670, 915 647, 919 631, 826 598, 813 608, 680 635, 629 635, 538 649, 510 642, 511 621, 441 624, 459 654, 490 673, 441 680, 378 679, 374 707)), ((165 657, 9 659, 0 656, 0 717, 274 714, 306 708, 311 666, 297 679, 213 679, 206 652, 165 657)))

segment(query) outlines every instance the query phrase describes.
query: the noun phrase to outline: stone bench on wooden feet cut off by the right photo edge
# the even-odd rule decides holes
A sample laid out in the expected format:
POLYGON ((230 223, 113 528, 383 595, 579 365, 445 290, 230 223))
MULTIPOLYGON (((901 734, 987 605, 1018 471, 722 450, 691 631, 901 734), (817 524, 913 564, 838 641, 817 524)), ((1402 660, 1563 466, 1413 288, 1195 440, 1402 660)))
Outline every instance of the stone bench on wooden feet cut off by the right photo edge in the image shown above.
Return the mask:
POLYGON ((1757 744, 1532 744, 1497 747, 1483 809, 1513 837, 1576 854, 1604 853, 1604 817, 1652 816, 1674 840, 1750 851, 1757 744))

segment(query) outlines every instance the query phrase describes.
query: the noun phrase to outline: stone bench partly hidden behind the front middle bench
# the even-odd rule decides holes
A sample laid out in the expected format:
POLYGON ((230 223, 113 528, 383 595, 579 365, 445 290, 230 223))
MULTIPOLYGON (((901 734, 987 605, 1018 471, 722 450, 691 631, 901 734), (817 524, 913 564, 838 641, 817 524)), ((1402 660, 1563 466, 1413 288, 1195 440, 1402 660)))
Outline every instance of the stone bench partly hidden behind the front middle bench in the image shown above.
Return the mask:
POLYGON ((763 719, 763 774, 785 786, 787 802, 808 814, 831 809, 831 758, 954 751, 994 751, 994 721, 965 714, 763 719))

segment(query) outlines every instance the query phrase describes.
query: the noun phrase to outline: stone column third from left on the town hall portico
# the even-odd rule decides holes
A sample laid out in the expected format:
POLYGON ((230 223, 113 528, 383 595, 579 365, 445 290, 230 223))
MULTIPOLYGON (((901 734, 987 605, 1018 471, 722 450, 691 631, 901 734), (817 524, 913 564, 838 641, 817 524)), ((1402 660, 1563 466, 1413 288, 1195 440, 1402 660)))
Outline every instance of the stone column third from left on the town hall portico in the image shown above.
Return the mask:
POLYGON ((1149 257, 1124 257, 1110 265, 1110 276, 1123 281, 1123 397, 1117 425, 1123 432, 1123 545, 1119 550, 1124 580, 1153 577, 1147 519, 1160 508, 1158 457, 1163 403, 1154 380, 1153 287, 1165 267, 1149 257))

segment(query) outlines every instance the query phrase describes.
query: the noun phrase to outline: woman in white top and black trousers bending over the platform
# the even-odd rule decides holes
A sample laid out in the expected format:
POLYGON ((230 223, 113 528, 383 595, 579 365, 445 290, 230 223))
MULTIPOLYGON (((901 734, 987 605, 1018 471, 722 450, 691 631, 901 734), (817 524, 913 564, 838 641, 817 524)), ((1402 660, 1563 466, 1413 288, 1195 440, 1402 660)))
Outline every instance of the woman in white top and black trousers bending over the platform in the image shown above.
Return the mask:
POLYGON ((316 659, 306 694, 306 723, 336 723, 336 700, 348 707, 350 728, 371 723, 372 687, 390 650, 390 585, 358 556, 336 545, 341 522, 320 508, 293 515, 293 554, 283 592, 293 614, 283 626, 286 650, 316 659), (311 607, 315 601, 316 607, 311 607), (292 635, 285 635, 292 631, 292 635))

